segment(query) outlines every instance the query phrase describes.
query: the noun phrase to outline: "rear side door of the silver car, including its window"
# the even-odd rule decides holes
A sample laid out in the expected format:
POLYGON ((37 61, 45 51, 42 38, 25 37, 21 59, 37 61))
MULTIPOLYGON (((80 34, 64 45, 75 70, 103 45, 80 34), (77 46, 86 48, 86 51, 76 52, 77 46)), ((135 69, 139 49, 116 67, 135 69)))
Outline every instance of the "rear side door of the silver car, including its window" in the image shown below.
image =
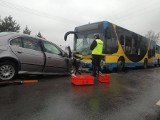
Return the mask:
POLYGON ((42 72, 45 61, 38 39, 17 37, 10 41, 10 46, 21 63, 21 71, 42 72))

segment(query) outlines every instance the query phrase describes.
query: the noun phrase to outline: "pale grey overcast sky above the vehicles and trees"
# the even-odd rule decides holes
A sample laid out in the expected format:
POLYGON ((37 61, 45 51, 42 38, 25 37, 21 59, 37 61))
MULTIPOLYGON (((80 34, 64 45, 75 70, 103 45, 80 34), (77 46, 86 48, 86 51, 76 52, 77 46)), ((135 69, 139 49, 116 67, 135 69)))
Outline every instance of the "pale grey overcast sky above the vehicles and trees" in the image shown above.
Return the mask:
POLYGON ((160 32, 160 0, 0 0, 1 19, 11 15, 31 35, 38 32, 58 45, 71 45, 64 34, 83 24, 107 20, 145 35, 160 32))

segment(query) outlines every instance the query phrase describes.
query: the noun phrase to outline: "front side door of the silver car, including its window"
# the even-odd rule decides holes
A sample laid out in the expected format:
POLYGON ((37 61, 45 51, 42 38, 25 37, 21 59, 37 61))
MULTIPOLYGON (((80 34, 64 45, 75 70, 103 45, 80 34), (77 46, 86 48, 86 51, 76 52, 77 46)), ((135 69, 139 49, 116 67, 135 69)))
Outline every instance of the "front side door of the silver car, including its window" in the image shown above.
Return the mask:
POLYGON ((44 72, 66 73, 68 69, 68 58, 62 56, 62 51, 53 43, 43 41, 46 55, 44 72))

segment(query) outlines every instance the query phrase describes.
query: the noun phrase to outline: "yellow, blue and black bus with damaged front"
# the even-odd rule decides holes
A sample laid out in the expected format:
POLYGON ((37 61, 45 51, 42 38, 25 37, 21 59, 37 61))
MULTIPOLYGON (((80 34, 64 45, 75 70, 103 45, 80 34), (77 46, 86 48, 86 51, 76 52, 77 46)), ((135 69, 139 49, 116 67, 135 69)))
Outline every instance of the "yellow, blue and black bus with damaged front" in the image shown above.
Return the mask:
POLYGON ((99 33, 104 41, 104 69, 123 70, 124 67, 137 66, 147 68, 160 64, 155 63, 154 41, 108 21, 102 21, 75 27, 74 31, 69 31, 64 36, 66 40, 69 34, 74 34, 74 56, 81 59, 82 67, 92 68, 90 45, 95 33, 99 33))

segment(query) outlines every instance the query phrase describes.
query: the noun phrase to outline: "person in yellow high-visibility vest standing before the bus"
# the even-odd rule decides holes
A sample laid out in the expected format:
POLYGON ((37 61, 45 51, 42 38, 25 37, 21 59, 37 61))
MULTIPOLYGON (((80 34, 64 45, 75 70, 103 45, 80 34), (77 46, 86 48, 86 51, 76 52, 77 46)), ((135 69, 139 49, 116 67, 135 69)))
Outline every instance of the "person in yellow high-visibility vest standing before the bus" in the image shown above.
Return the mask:
POLYGON ((99 34, 94 34, 95 40, 90 46, 92 50, 92 66, 93 66, 93 76, 96 77, 101 71, 100 62, 102 59, 103 41, 100 39, 99 34))

